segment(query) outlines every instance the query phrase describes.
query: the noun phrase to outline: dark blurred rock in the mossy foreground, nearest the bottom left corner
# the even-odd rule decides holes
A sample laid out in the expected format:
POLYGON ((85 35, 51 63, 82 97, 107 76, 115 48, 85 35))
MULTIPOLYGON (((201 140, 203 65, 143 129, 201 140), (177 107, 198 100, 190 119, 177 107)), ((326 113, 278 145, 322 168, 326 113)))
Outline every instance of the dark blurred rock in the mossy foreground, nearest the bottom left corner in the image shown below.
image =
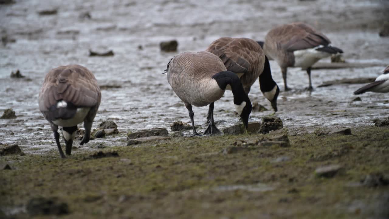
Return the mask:
POLYGON ((28 201, 26 210, 32 216, 69 214, 68 204, 58 198, 32 198, 28 201))

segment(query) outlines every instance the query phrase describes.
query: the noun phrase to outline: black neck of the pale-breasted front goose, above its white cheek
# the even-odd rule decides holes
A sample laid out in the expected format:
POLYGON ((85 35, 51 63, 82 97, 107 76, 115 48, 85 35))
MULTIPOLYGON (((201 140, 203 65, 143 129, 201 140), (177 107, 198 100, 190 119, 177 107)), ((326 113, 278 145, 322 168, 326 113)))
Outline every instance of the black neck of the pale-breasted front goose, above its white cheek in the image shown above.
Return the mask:
POLYGON ((221 71, 214 76, 213 79, 216 80, 217 85, 220 89, 226 90, 227 85, 231 86, 232 94, 234 95, 234 104, 241 104, 243 101, 249 100, 249 97, 244 92, 242 82, 240 82, 239 77, 232 71, 221 71))

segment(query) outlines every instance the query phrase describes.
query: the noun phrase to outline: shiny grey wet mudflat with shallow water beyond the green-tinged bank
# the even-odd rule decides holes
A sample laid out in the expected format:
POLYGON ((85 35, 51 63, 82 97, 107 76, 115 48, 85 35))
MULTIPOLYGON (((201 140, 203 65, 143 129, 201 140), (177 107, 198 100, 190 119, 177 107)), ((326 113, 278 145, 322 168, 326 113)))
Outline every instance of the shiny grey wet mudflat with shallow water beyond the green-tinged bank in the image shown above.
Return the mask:
MULTIPOLYGON (((28 151, 55 149, 49 124, 38 108, 38 94, 45 74, 54 67, 81 64, 88 67, 100 85, 119 88, 102 90, 102 103, 93 127, 114 120, 120 132, 166 127, 182 120, 189 122, 184 104, 161 74, 176 53, 159 50, 159 42, 177 39, 179 51, 200 51, 219 37, 250 37, 261 40, 273 26, 305 21, 322 30, 332 44, 345 51, 349 62, 375 62, 377 67, 315 70, 314 87, 323 81, 341 78, 376 77, 389 64, 389 38, 378 36, 388 5, 384 1, 17 1, 0 6, 1 34, 16 39, 0 49, 0 111, 12 108, 18 118, 0 120, 0 141, 19 143, 28 151), (205 6, 206 5, 206 6, 205 6), (317 8, 317 5, 321 5, 317 8), (58 8, 58 14, 40 16, 38 11, 58 8), (89 12, 91 19, 80 18, 89 12), (138 49, 138 46, 142 49, 138 49), (88 50, 107 51, 113 57, 88 57, 88 50), (20 69, 26 78, 9 78, 20 69), (27 79, 28 78, 28 79, 27 79), (13 134, 12 134, 13 133, 13 134), (47 147, 50 146, 50 147, 47 147), (27 147, 27 148, 26 148, 27 147)), ((322 60, 329 62, 329 59, 322 60)), ((280 68, 270 62, 273 78, 283 91, 280 68)), ((389 98, 385 94, 360 95, 351 102, 352 92, 362 85, 336 85, 303 91, 308 77, 297 68, 288 69, 293 90, 281 92, 278 100, 284 127, 312 131, 323 126, 371 124, 373 118, 387 116, 389 98)), ((255 83, 249 95, 271 109, 255 83)), ((215 103, 219 128, 238 123, 226 92, 215 103)), ((207 107, 194 108, 195 124, 205 129, 207 107)), ((253 112, 250 121, 260 121, 272 111, 253 112)), ((119 138, 110 139, 116 140, 119 138)), ((107 142, 94 140, 95 142, 107 142)))

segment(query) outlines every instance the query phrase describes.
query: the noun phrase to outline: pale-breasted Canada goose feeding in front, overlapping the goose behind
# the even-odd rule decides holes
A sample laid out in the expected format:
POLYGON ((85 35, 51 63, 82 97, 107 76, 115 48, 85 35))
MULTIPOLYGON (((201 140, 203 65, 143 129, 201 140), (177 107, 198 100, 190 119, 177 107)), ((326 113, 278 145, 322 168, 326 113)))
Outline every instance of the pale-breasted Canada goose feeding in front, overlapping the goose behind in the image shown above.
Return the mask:
POLYGON ((227 71, 219 57, 207 51, 184 52, 170 60, 166 72, 170 86, 188 109, 194 136, 199 134, 193 122, 192 105, 209 104, 210 122, 203 134, 220 133, 214 122, 214 102, 223 96, 228 85, 234 95, 235 109, 247 129, 252 109, 250 99, 238 76, 227 71))

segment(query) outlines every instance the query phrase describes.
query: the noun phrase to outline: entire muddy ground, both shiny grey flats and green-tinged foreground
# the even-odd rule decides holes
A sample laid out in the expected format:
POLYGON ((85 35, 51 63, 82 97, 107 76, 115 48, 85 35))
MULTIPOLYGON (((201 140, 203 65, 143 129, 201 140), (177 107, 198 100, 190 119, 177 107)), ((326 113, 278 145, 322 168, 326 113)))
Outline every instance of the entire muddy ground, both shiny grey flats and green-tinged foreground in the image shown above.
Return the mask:
MULTIPOLYGON (((352 92, 361 84, 317 87, 335 79, 377 77, 389 64, 389 38, 378 35, 388 21, 387 2, 14 2, 0 5, 5 21, 0 23, 0 112, 12 108, 17 118, 0 120, 0 142, 16 143, 26 155, 0 157, 12 168, 0 170, 0 210, 7 216, 29 217, 28 201, 43 196, 66 203, 69 218, 388 217, 382 207, 389 201, 388 187, 364 180, 380 174, 385 179, 389 173, 389 130, 372 121, 388 116, 388 95, 366 93, 360 95, 361 101, 352 101, 352 92), (270 61, 281 88, 275 116, 288 130, 290 147, 219 153, 238 140, 263 138, 261 134, 124 146, 127 132, 153 127, 170 131, 175 121, 189 122, 184 104, 160 74, 176 53, 161 52, 159 42, 176 39, 177 53, 200 51, 224 36, 261 40, 273 26, 291 21, 321 30, 343 49, 347 62, 359 65, 313 71, 313 92, 304 90, 306 73, 290 68, 288 83, 293 90, 283 92, 280 69, 270 61), (112 50, 114 55, 89 57, 89 50, 112 50), (76 140, 72 156, 62 160, 37 97, 44 75, 66 64, 88 67, 102 86, 93 128, 112 120, 119 134, 82 147, 76 140), (10 77, 17 69, 24 78, 10 77), (352 135, 315 134, 331 127, 351 127, 352 135), (119 157, 89 159, 98 150, 116 150, 119 157), (329 164, 340 164, 339 174, 315 176, 317 167, 329 164)), ((215 103, 220 129, 239 123, 231 97, 226 92, 215 103)), ((271 109, 258 83, 249 97, 271 109)), ((207 108, 193 110, 203 131, 207 108)), ((261 122, 271 113, 253 112, 250 121, 261 122)))

